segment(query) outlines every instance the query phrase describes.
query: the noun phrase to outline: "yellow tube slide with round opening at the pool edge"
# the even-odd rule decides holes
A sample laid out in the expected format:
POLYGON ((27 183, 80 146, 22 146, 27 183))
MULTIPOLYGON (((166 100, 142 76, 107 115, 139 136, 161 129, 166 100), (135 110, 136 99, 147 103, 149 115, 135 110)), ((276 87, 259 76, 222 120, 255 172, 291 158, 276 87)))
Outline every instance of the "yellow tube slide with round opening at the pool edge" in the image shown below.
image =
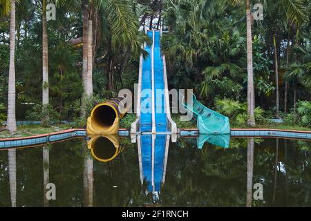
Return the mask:
MULTIPOLYGON (((130 98, 129 98, 130 99, 130 98)), ((129 111, 124 97, 110 99, 93 108, 88 117, 86 132, 88 135, 117 135, 120 119, 129 111)))

